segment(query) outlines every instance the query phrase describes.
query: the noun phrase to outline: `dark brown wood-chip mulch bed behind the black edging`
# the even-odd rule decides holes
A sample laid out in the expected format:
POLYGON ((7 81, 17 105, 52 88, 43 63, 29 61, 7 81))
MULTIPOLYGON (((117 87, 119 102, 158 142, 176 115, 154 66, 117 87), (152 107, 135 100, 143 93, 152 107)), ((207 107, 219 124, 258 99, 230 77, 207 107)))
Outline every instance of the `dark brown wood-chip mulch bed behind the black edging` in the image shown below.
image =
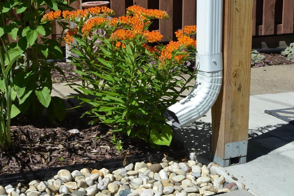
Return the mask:
MULTIPOLYGON (((110 127, 88 125, 88 119, 78 117, 77 114, 67 116, 64 121, 55 124, 50 124, 45 117, 37 121, 14 119, 11 126, 12 149, 7 152, 0 150, 0 175, 158 153, 142 140, 130 140, 118 135, 117 139, 123 145, 119 153, 110 141, 110 127), (77 129, 79 133, 70 133, 72 129, 77 129)), ((173 140, 160 152, 173 154, 180 146, 181 143, 173 140)))

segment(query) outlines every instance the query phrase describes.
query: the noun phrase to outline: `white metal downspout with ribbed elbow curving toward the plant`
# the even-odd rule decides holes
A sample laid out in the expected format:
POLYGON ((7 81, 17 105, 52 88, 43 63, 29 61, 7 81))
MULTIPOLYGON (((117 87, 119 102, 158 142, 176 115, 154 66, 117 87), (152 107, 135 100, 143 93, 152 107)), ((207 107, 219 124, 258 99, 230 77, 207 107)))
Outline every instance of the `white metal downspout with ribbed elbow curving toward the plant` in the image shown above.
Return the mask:
POLYGON ((191 93, 168 107, 176 127, 185 127, 201 118, 212 107, 222 84, 223 0, 197 0, 197 79, 191 93))

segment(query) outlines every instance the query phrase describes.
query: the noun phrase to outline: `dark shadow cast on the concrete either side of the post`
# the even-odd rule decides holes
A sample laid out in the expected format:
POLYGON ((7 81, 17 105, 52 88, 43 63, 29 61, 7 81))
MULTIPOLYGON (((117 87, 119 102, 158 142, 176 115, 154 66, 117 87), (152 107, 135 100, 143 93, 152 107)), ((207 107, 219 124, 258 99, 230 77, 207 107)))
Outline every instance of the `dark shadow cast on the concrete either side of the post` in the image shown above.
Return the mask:
MULTIPOLYGON (((176 137, 181 140, 185 147, 195 158, 211 158, 211 134, 212 125, 198 121, 184 128, 175 128, 176 137)), ((267 125, 257 129, 248 130, 247 162, 260 156, 266 155, 294 141, 294 125, 277 124, 267 125)))

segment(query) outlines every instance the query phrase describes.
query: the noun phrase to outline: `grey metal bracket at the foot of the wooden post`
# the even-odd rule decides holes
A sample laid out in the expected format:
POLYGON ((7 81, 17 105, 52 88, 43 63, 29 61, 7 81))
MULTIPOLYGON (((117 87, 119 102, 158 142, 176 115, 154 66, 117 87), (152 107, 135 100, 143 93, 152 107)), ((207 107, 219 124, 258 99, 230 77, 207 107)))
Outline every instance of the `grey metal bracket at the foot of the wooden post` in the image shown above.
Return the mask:
POLYGON ((214 155, 213 162, 222 167, 246 163, 247 145, 246 140, 226 143, 224 158, 214 155))

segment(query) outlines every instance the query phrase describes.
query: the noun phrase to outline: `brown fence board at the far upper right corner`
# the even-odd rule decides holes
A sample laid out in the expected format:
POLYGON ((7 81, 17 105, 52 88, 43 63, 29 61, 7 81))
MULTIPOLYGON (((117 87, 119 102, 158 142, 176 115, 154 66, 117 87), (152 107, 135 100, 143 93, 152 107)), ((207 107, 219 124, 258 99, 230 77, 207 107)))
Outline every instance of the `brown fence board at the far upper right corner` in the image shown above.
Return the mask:
POLYGON ((294 1, 283 1, 282 33, 293 33, 294 1))

